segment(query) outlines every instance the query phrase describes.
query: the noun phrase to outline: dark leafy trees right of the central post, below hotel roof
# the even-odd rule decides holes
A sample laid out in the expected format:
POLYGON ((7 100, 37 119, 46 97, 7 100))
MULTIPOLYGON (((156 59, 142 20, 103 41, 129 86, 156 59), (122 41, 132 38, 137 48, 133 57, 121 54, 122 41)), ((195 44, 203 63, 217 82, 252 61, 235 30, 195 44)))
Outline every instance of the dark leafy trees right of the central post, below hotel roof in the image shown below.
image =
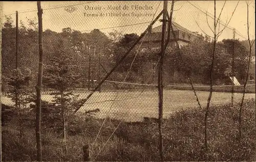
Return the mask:
MULTIPOLYGON (((212 72, 212 79, 215 85, 230 83, 232 43, 233 40, 231 39, 216 42, 216 63, 212 72)), ((236 50, 234 72, 238 79, 242 79, 245 76, 247 67, 247 50, 239 40, 235 41, 234 47, 236 50)), ((171 62, 172 68, 175 68, 180 75, 191 75, 194 76, 194 79, 197 79, 197 83, 209 84, 212 43, 208 41, 194 41, 182 46, 180 49, 183 53, 182 60, 179 58, 179 50, 173 48, 166 52, 166 62, 171 62)))

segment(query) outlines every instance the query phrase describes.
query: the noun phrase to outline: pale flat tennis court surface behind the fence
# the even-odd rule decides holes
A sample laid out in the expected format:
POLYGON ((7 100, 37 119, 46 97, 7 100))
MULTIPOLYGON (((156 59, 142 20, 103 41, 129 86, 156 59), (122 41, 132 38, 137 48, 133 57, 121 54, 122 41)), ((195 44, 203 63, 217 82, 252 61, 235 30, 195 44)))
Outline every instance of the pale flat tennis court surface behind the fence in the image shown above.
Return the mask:
MULTIPOLYGON (((80 94, 80 98, 86 98, 88 93, 80 94)), ((203 107, 206 106, 208 91, 197 91, 197 95, 203 107)), ((194 92, 191 90, 166 89, 163 94, 163 118, 175 111, 198 107, 194 92)), ((255 94, 246 94, 245 99, 255 99, 255 94)), ((242 94, 234 94, 234 102, 240 102, 242 94)), ((42 100, 51 101, 53 96, 42 95, 42 100)), ((214 92, 211 103, 215 105, 230 103, 231 94, 228 92, 214 92)), ((3 104, 14 105, 7 97, 1 99, 3 104)), ((84 104, 80 111, 100 109, 97 118, 115 118, 125 121, 142 121, 144 117, 158 118, 158 91, 121 91, 121 92, 95 92, 84 104), (114 101, 114 102, 113 102, 114 101)))

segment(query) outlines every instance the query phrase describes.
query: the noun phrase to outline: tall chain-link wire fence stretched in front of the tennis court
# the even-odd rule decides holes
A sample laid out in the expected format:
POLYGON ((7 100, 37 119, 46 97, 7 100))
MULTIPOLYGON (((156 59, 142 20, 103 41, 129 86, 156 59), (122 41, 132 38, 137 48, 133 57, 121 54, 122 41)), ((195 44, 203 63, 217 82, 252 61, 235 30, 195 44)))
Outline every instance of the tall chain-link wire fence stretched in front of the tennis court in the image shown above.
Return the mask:
MULTIPOLYGON (((227 3, 233 6, 232 11, 236 13, 237 2, 227 3)), ((171 4, 168 2, 167 17, 170 16, 171 4)), ((87 130, 95 130, 92 139, 86 142, 92 143, 93 150, 96 147, 94 145, 104 147, 113 134, 123 128, 122 122, 157 121, 163 2, 54 2, 54 5, 42 2, 44 73, 41 108, 45 130, 67 126, 67 134, 70 135, 81 124, 74 119, 89 115, 95 119, 94 122, 100 123, 92 130, 87 130), (76 115, 72 116, 74 112, 76 115), (65 123, 65 120, 66 126, 56 126, 56 123, 65 123), (117 124, 114 122, 114 126, 110 126, 106 120, 117 121, 117 124), (105 140, 101 139, 100 144, 97 143, 100 133, 108 128, 113 133, 106 133, 110 135, 109 138, 101 134, 105 140)), ((207 105, 214 15, 211 10, 205 11, 199 6, 199 2, 191 1, 178 1, 174 5, 172 28, 175 36, 170 36, 163 62, 164 120, 172 118, 176 112, 198 109, 197 98, 202 108, 207 105), (182 61, 179 60, 175 40, 183 53, 182 61)), ((223 9, 219 7, 218 10, 222 12, 223 9)), ((237 104, 243 95, 249 56, 247 36, 238 29, 234 30, 236 27, 229 26, 229 19, 236 18, 232 16, 232 13, 229 14, 226 22, 222 17, 217 18, 214 93, 210 102, 214 106, 230 104, 231 96, 237 104), (232 75, 236 77, 235 81, 230 79, 232 75), (233 88, 232 84, 235 84, 233 88)), ((2 106, 26 108, 29 111, 35 107, 39 59, 37 21, 37 10, 31 9, 18 11, 17 15, 11 13, 3 23, 2 106)), ((165 39, 168 39, 166 35, 167 26, 165 39)), ((254 37, 251 36, 251 39, 254 37)), ((252 58, 253 63, 255 57, 254 62, 252 58)), ((255 67, 251 66, 246 100, 255 99, 254 73, 255 67)), ((103 156, 108 154, 103 147, 98 150, 98 154, 91 152, 91 157, 108 159, 103 156), (100 154, 101 151, 103 153, 100 154)), ((118 157, 109 159, 122 160, 118 157)), ((157 157, 145 159, 155 160, 157 157)))

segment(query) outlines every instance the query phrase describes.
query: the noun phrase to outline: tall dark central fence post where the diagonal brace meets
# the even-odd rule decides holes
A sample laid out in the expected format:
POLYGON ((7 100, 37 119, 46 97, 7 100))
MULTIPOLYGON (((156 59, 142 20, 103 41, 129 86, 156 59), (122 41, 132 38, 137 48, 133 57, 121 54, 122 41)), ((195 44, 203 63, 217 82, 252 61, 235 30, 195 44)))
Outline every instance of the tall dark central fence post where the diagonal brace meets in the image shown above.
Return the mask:
POLYGON ((163 24, 162 24, 162 41, 161 41, 161 56, 158 68, 158 131, 159 131, 159 154, 161 161, 163 161, 163 136, 162 136, 162 120, 163 120, 163 61, 164 61, 164 42, 165 42, 165 29, 166 29, 166 16, 167 16, 167 1, 163 5, 163 24))

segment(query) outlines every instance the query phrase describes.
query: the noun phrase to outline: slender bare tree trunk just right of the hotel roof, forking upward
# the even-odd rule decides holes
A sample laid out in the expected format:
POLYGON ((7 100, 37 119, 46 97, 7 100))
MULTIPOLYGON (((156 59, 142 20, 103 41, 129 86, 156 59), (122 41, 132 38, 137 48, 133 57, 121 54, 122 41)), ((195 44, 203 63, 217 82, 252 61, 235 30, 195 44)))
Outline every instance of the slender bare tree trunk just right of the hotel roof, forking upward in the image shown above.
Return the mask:
POLYGON ((215 61, 215 48, 216 48, 216 41, 217 41, 217 33, 216 33, 216 1, 214 1, 214 45, 212 49, 212 59, 211 59, 211 66, 210 66, 210 92, 209 96, 207 99, 207 106, 206 106, 206 111, 204 115, 204 146, 205 149, 208 150, 208 145, 207 145, 207 118, 208 118, 208 113, 209 113, 209 107, 210 107, 210 100, 211 100, 211 95, 212 95, 212 82, 213 82, 213 76, 212 73, 214 72, 214 61, 215 61))

